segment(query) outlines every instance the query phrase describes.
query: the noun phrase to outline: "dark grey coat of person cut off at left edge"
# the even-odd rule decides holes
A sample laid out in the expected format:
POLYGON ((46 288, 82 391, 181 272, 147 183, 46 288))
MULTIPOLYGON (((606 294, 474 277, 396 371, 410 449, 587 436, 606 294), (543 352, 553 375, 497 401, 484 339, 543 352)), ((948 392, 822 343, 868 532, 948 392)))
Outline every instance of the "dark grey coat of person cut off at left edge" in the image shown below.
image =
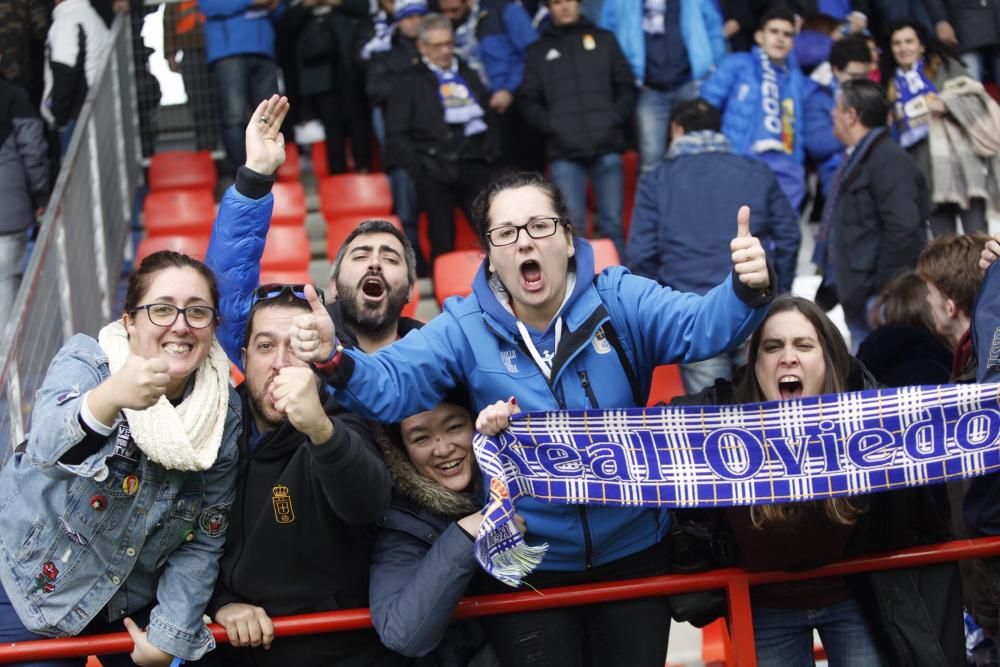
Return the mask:
POLYGON ((0 234, 21 232, 49 194, 48 144, 28 94, 0 78, 0 234))

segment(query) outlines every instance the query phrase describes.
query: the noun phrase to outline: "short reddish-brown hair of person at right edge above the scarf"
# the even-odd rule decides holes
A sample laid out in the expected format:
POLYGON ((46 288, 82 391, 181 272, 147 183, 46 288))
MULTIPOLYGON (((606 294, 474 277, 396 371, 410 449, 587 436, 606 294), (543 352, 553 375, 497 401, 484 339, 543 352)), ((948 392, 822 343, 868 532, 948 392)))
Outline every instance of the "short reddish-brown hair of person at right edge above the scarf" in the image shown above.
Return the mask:
POLYGON ((968 236, 948 234, 928 243, 917 259, 917 275, 931 283, 955 302, 966 315, 972 315, 976 291, 983 282, 979 254, 990 237, 982 232, 968 236))

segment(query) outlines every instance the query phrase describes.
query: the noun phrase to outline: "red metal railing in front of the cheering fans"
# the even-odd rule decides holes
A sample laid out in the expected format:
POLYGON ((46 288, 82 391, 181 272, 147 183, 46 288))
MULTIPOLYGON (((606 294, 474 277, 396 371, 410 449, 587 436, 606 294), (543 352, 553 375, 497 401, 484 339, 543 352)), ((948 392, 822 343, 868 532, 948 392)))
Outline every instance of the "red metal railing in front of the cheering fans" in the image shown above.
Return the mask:
MULTIPOLYGON (((862 556, 797 572, 747 572, 737 568, 726 568, 699 574, 665 575, 583 586, 549 588, 537 593, 480 595, 463 599, 455 610, 453 618, 510 614, 613 600, 723 589, 729 600, 729 628, 733 648, 730 662, 737 667, 756 667, 757 655, 754 649, 753 618, 750 608, 751 586, 844 576, 877 570, 920 567, 969 558, 995 556, 1000 556, 1000 537, 982 537, 974 540, 956 540, 943 544, 911 547, 891 553, 862 556)), ((221 625, 213 623, 208 627, 216 641, 228 641, 226 630, 221 625)), ((367 609, 328 611, 274 619, 275 637, 358 630, 370 627, 371 616, 367 609)), ((0 663, 127 653, 131 650, 132 638, 126 632, 70 639, 45 639, 16 644, 0 644, 0 663)))

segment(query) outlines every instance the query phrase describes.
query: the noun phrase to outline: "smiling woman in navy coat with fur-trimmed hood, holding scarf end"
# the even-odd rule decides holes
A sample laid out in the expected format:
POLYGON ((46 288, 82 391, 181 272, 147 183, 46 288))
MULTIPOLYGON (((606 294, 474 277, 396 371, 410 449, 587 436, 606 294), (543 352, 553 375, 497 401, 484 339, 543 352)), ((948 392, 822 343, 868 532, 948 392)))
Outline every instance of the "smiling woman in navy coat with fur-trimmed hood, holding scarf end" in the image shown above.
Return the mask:
POLYGON ((372 555, 372 623, 382 643, 420 657, 419 665, 497 664, 477 620, 451 622, 479 570, 473 545, 483 494, 473 424, 468 397, 453 391, 380 437, 394 485, 372 555))

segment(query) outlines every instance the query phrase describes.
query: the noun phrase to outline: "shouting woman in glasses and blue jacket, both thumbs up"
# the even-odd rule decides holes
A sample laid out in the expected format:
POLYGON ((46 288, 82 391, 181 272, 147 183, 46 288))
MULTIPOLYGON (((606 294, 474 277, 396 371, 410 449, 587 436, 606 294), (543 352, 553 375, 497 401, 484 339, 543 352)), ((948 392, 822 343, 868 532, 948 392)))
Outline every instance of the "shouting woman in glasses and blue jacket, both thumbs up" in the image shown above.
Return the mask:
MULTIPOLYGON (((639 202, 644 205, 644 202, 639 202)), ((496 179, 473 220, 486 259, 472 294, 375 354, 339 350, 318 301, 297 318, 292 347, 313 362, 335 398, 383 422, 437 405, 465 385, 473 408, 509 411, 643 405, 655 366, 705 359, 739 344, 763 316, 771 277, 740 211, 734 272, 706 296, 683 294, 612 267, 576 238, 559 190, 538 174, 496 179), (509 403, 507 402, 509 399, 509 403)), ((308 290, 308 288, 307 288, 308 290)), ((307 292, 308 293, 308 292, 307 292)), ((481 420, 482 421, 482 420, 481 420)), ((660 574, 666 513, 649 509, 518 503, 532 546, 548 552, 526 583, 536 588, 660 574)), ((509 591, 492 582, 484 590, 509 591)), ((484 619, 505 666, 657 665, 666 656, 664 599, 642 599, 484 619)))

